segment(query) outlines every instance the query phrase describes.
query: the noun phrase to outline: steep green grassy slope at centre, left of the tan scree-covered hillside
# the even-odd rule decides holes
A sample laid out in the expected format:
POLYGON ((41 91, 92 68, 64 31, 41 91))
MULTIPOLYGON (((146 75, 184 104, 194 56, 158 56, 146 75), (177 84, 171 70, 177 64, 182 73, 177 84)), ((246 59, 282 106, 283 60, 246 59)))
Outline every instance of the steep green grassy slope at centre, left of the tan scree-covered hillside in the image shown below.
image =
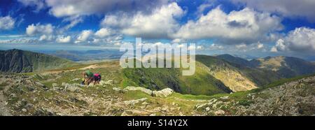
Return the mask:
POLYGON ((171 88, 181 94, 212 95, 230 93, 230 89, 207 73, 203 64, 196 62, 194 75, 182 76, 182 68, 125 68, 123 87, 140 86, 148 89, 171 88))

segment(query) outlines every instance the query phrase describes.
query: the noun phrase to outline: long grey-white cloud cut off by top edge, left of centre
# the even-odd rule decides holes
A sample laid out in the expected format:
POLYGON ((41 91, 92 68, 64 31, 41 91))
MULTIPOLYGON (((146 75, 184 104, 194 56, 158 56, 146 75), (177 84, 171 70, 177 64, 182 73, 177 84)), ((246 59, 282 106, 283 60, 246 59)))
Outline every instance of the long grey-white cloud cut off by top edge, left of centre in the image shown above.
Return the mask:
POLYGON ((113 10, 150 10, 167 2, 168 0, 45 0, 47 6, 50 7, 50 13, 56 17, 104 14, 113 10))

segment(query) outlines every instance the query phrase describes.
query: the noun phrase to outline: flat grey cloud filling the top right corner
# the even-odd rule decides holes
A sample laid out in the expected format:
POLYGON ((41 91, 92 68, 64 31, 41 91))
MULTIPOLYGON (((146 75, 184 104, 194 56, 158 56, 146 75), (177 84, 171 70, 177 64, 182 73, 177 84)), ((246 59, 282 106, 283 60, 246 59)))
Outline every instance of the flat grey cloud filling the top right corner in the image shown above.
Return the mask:
POLYGON ((311 0, 232 0, 244 3, 249 8, 278 13, 286 17, 306 17, 315 22, 315 1, 311 0))

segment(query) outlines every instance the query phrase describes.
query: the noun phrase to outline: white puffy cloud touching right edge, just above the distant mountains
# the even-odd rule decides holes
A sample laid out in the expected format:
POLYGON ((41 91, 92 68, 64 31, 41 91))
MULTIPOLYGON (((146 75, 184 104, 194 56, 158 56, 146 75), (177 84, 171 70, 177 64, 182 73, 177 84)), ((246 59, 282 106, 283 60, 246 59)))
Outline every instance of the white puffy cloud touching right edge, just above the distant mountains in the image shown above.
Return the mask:
POLYGON ((296 28, 279 39, 270 51, 315 52, 315 29, 296 28))

